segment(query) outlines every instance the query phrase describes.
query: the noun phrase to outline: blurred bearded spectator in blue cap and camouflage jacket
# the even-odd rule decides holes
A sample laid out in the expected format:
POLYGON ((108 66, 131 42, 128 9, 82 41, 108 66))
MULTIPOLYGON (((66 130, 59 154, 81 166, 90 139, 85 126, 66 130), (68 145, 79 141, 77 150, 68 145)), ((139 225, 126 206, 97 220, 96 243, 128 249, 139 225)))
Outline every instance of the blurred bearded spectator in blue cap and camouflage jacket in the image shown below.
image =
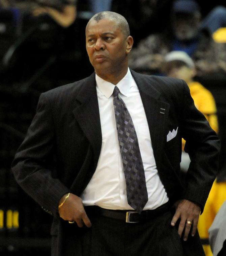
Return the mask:
POLYGON ((215 42, 201 28, 201 12, 194 0, 176 0, 170 13, 170 27, 140 41, 130 56, 130 67, 137 71, 159 73, 164 56, 172 50, 185 51, 195 61, 197 75, 219 70, 214 54, 215 42))

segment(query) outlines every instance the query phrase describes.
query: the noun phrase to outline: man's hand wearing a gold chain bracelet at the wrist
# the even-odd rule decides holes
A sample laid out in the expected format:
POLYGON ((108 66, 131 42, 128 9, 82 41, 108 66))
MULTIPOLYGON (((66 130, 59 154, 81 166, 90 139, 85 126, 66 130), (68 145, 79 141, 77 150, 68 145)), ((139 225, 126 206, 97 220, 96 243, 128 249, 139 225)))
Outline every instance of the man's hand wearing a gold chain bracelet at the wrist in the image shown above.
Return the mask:
MULTIPOLYGON (((66 195, 62 196, 59 204, 64 201, 65 196, 66 195)), ((70 193, 69 197, 58 211, 62 219, 70 222, 75 221, 80 228, 83 227, 84 224, 88 228, 92 226, 88 216, 86 215, 82 199, 75 194, 70 193)))

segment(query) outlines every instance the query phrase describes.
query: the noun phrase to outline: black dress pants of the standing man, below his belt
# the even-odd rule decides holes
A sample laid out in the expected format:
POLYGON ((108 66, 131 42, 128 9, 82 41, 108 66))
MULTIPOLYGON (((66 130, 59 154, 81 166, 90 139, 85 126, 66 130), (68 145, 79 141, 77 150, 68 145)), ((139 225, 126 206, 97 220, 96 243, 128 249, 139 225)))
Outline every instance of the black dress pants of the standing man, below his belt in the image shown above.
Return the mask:
POLYGON ((182 241, 166 212, 140 223, 90 217, 92 227, 65 223, 64 256, 205 256, 198 232, 182 241))

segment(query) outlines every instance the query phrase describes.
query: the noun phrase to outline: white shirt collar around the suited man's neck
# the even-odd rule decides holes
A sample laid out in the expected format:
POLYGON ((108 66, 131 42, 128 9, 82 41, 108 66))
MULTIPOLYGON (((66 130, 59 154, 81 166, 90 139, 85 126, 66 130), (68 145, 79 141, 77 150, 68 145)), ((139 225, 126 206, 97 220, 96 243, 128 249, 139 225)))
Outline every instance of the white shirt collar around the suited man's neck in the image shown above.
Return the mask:
POLYGON ((118 87, 121 94, 123 94, 126 97, 129 96, 129 92, 130 92, 130 88, 132 86, 132 80, 133 80, 133 76, 129 68, 126 75, 118 82, 117 85, 113 85, 112 83, 105 81, 97 74, 95 78, 96 78, 97 88, 105 95, 106 98, 109 99, 111 97, 115 86, 118 87))

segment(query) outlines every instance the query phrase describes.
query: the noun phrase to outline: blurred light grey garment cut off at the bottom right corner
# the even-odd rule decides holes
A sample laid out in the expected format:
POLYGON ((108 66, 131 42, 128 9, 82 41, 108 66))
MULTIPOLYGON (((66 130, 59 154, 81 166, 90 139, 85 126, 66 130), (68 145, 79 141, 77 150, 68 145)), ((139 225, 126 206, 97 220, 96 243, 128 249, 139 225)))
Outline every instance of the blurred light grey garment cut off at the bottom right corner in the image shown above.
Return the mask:
POLYGON ((226 255, 226 201, 209 228, 209 241, 214 256, 226 255))

